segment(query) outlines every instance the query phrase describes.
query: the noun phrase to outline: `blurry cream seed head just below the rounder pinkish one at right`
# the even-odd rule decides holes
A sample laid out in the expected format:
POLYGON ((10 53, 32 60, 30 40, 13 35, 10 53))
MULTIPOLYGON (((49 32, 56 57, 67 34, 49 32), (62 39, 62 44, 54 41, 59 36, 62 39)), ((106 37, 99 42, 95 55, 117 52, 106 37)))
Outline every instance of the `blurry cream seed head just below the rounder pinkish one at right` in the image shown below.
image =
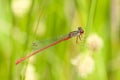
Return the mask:
POLYGON ((72 60, 72 64, 76 67, 78 74, 83 78, 92 73, 94 69, 94 60, 90 55, 78 55, 72 60))

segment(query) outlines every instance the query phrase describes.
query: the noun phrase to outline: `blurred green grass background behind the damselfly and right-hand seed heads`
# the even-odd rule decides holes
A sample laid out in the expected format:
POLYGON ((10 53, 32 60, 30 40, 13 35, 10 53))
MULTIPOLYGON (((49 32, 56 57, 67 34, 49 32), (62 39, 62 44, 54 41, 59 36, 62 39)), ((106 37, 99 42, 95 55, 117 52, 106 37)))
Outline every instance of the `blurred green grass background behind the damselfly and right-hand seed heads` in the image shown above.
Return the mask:
POLYGON ((120 80, 120 0, 0 0, 0 78, 120 80), (15 64, 33 51, 35 40, 65 35, 78 26, 85 30, 83 41, 76 44, 72 38, 15 64), (92 33, 104 43, 93 56, 95 69, 83 78, 71 60, 87 51, 85 41, 92 33))

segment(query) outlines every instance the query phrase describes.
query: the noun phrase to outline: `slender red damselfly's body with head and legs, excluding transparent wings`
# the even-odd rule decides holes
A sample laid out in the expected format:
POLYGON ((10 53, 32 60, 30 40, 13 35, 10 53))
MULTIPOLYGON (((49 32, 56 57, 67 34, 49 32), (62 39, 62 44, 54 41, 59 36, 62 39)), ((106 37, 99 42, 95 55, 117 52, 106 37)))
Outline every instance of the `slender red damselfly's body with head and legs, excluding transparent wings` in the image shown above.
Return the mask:
POLYGON ((78 39, 81 39, 81 35, 82 35, 83 33, 84 33, 84 30, 82 29, 82 27, 78 27, 78 30, 70 32, 70 33, 67 34, 64 38, 61 38, 60 40, 55 41, 55 42, 49 44, 48 46, 45 46, 45 47, 43 47, 43 48, 41 48, 41 49, 38 49, 38 50, 32 52, 31 54, 29 54, 29 55, 27 55, 27 56, 25 56, 25 57, 23 57, 23 58, 20 58, 19 60, 16 61, 16 64, 19 64, 20 62, 26 60, 27 58, 29 58, 29 57, 31 57, 31 56, 33 56, 33 55, 35 55, 35 54, 37 54, 37 53, 39 53, 39 52, 41 52, 41 51, 44 51, 45 49, 50 48, 50 47, 52 47, 52 46, 54 46, 54 45, 56 45, 56 44, 58 44, 58 43, 60 43, 60 42, 69 40, 69 39, 71 39, 72 37, 75 37, 75 36, 76 36, 76 43, 77 43, 77 42, 78 42, 78 39))

